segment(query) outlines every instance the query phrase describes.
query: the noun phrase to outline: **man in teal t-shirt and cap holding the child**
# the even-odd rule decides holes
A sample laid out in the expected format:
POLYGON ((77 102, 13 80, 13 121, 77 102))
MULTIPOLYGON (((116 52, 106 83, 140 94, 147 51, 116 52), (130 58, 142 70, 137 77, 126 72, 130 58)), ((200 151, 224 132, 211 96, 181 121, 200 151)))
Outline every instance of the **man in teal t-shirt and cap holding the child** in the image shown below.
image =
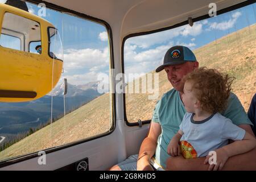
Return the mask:
MULTIPOLYGON (((182 156, 170 157, 170 155, 167 154, 168 143, 179 130, 179 125, 185 114, 185 108, 181 101, 184 88, 182 78, 198 67, 199 63, 189 48, 175 46, 168 49, 164 56, 163 65, 158 67, 156 72, 160 72, 164 69, 174 89, 165 93, 155 106, 150 130, 141 144, 137 164, 134 162, 136 156, 131 156, 125 160, 125 162, 117 164, 110 168, 110 170, 152 170, 150 159, 154 155, 156 162, 165 169, 207 170, 209 168, 209 165, 204 164, 205 158, 188 160, 184 159, 182 156)), ((222 114, 231 119, 234 124, 254 136, 250 127, 252 124, 235 94, 230 94, 228 107, 222 114)), ((225 169, 256 170, 256 149, 246 154, 229 158, 225 164, 224 170, 225 169)))

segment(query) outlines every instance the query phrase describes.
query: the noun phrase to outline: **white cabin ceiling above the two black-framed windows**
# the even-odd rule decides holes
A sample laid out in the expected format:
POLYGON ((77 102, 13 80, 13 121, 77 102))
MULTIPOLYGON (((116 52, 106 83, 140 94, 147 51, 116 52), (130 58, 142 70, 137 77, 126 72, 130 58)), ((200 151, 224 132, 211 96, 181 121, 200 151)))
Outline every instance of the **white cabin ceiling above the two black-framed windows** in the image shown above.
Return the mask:
POLYGON ((112 30, 123 38, 135 32, 144 32, 184 22, 208 14, 209 3, 217 10, 245 0, 47 0, 94 18, 105 20, 112 30), (117 29, 116 29, 117 28, 117 29))

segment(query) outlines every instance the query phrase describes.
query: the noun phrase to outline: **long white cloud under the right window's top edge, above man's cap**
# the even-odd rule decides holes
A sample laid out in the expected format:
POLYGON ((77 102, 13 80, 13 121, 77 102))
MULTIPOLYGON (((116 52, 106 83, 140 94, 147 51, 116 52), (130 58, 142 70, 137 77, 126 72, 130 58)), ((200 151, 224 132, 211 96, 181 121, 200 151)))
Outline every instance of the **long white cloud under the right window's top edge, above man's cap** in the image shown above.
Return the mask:
POLYGON ((139 48, 149 48, 155 44, 167 44, 172 38, 179 35, 181 36, 197 36, 203 31, 203 25, 201 23, 195 22, 193 27, 188 24, 185 26, 177 27, 171 30, 162 31, 150 35, 142 35, 126 40, 126 44, 136 45, 139 48))

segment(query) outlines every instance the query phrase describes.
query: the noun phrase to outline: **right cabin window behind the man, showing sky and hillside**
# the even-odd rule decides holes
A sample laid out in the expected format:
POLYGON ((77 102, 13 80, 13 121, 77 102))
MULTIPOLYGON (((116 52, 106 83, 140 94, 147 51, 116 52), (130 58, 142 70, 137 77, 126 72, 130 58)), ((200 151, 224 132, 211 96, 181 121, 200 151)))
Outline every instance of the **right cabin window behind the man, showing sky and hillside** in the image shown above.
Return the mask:
POLYGON ((247 111, 256 92, 255 10, 254 3, 194 22, 193 27, 184 25, 127 39, 123 63, 127 121, 150 120, 156 101, 172 89, 166 73, 155 73, 155 69, 163 63, 166 51, 175 45, 191 48, 200 67, 216 68, 236 77, 233 92, 247 111))

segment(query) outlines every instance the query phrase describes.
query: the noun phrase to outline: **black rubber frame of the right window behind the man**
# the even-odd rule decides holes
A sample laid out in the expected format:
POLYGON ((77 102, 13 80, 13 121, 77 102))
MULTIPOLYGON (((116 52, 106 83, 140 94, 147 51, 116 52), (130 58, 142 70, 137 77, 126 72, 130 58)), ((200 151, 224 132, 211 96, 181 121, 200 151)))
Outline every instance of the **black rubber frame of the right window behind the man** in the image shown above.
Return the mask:
MULTIPOLYGON (((240 9, 242 7, 245 7, 245 6, 252 5, 254 3, 255 3, 255 1, 244 1, 244 2, 238 3, 236 5, 233 5, 233 6, 230 6, 230 7, 226 7, 225 9, 218 10, 217 11, 217 16, 221 15, 221 14, 224 14, 224 13, 228 13, 228 12, 233 11, 233 10, 240 9)), ((204 19, 208 19, 208 18, 212 18, 212 17, 210 17, 209 14, 206 14, 206 15, 199 16, 197 18, 193 18, 192 21, 195 23, 195 22, 198 22, 200 20, 204 20, 204 19)), ((181 26, 184 26, 186 24, 188 24, 188 20, 185 20, 184 22, 180 22, 180 23, 174 24, 173 26, 159 28, 159 29, 152 30, 152 31, 138 32, 138 33, 129 34, 129 35, 125 36, 125 38, 123 38, 123 40, 122 40, 122 49, 121 49, 121 51, 122 51, 121 52, 121 68, 122 68, 122 73, 125 74, 125 59, 124 59, 124 52, 125 51, 124 50, 125 50, 125 42, 126 42, 127 39, 133 38, 135 36, 149 35, 149 34, 154 34, 154 33, 157 33, 157 32, 171 30, 173 28, 181 27, 181 26)), ((140 126, 141 124, 139 122, 133 122, 132 123, 132 122, 129 122, 128 119, 127 119, 125 94, 126 93, 123 93, 123 113, 124 113, 125 123, 126 123, 127 126, 140 126)), ((150 122, 151 122, 151 119, 142 121, 142 125, 146 125, 146 124, 148 124, 150 122)))

